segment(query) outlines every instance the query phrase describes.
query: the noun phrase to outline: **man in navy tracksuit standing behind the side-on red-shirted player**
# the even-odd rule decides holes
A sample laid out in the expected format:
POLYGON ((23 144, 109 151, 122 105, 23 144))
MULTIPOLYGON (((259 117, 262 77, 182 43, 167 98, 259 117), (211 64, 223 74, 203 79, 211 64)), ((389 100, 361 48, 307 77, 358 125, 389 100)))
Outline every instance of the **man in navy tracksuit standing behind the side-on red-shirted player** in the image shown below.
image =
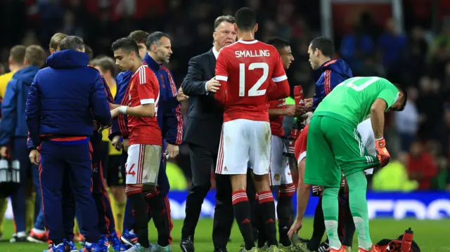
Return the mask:
POLYGON ((181 115, 181 104, 176 100, 176 86, 174 78, 169 69, 163 66, 163 63, 169 63, 172 55, 172 45, 169 36, 163 32, 153 32, 147 38, 147 54, 143 58, 144 64, 148 65, 155 73, 160 84, 160 101, 162 102, 158 110, 158 124, 162 128, 162 147, 165 153, 160 162, 160 171, 158 174, 158 185, 160 186, 158 194, 148 195, 148 201, 159 202, 161 208, 150 208, 151 216, 158 229, 158 244, 153 248, 155 251, 168 251, 171 249, 173 224, 170 216, 169 199, 169 179, 166 173, 166 161, 168 158, 174 158, 179 154, 179 145, 183 140, 183 117, 181 115), (164 223, 157 224, 155 215, 160 215, 164 223), (163 225, 164 224, 164 225, 163 225), (160 227, 161 228, 160 228, 160 227), (167 235, 168 232, 168 235, 167 235))

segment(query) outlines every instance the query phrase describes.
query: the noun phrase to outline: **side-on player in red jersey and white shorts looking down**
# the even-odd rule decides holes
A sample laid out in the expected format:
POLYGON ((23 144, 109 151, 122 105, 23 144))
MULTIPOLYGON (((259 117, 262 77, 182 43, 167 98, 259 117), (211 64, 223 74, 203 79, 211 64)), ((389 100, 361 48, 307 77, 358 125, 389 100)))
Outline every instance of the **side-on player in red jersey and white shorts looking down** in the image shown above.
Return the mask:
MULTIPOLYGON (((111 111, 112 117, 126 114, 129 120, 130 147, 125 168, 127 171, 125 190, 134 209, 138 243, 127 251, 150 251, 147 204, 152 213, 162 207, 159 206, 160 202, 150 200, 153 197, 148 197, 158 192, 158 171, 162 154, 162 134, 156 118, 160 100, 159 84, 155 74, 142 64, 138 45, 133 39, 129 37, 118 39, 111 48, 119 69, 133 72, 128 87, 127 105, 118 105, 111 111)), ((153 219, 159 232, 161 224, 165 225, 165 218, 158 213, 153 214, 153 219)), ((165 250, 152 248, 151 251, 170 251, 170 245, 165 250)))

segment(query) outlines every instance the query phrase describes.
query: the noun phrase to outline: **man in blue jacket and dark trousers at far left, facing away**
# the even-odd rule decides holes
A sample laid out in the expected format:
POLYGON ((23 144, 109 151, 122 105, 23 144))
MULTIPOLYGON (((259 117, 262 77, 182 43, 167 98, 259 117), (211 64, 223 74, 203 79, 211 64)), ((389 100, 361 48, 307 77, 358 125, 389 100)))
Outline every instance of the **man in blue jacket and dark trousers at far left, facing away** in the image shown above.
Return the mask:
MULTIPOLYGON (((25 187, 27 174, 32 173, 34 187, 39 186, 39 173, 34 172, 37 167, 32 166, 28 159, 27 125, 25 123, 25 98, 30 91, 34 76, 44 65, 45 53, 41 46, 27 46, 25 49, 24 67, 15 72, 13 79, 6 86, 5 97, 1 105, 0 124, 0 154, 8 156, 8 146, 11 146, 11 160, 13 165, 20 168, 20 186, 11 195, 15 220, 15 234, 11 241, 26 241, 25 233, 25 187)), ((41 198, 37 194, 37 200, 41 198)))

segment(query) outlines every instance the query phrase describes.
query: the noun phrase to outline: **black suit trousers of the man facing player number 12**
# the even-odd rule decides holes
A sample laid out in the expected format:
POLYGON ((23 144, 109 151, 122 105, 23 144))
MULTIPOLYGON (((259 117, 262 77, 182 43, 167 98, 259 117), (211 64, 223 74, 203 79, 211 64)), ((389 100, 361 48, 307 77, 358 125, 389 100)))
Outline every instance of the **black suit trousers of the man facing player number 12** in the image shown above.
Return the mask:
MULTIPOLYGON (((194 235, 195 227, 200 218, 203 200, 211 187, 211 173, 214 172, 217 162, 217 153, 200 145, 189 143, 191 157, 192 185, 186 199, 186 218, 184 218, 181 237, 194 235)), ((231 204, 231 183, 228 175, 215 176, 216 178, 216 206, 214 209, 214 224, 212 241, 214 248, 226 247, 233 225, 233 205, 231 204)))

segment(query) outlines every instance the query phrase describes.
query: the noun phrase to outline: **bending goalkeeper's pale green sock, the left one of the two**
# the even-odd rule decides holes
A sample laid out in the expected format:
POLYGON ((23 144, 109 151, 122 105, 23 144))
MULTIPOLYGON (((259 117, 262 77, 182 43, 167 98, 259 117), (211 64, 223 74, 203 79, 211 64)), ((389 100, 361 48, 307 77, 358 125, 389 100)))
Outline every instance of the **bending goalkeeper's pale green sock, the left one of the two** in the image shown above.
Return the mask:
POLYGON ((335 249, 341 247, 338 235, 338 193, 339 187, 326 187, 323 189, 322 195, 323 219, 325 220, 326 234, 330 241, 330 247, 335 249))

